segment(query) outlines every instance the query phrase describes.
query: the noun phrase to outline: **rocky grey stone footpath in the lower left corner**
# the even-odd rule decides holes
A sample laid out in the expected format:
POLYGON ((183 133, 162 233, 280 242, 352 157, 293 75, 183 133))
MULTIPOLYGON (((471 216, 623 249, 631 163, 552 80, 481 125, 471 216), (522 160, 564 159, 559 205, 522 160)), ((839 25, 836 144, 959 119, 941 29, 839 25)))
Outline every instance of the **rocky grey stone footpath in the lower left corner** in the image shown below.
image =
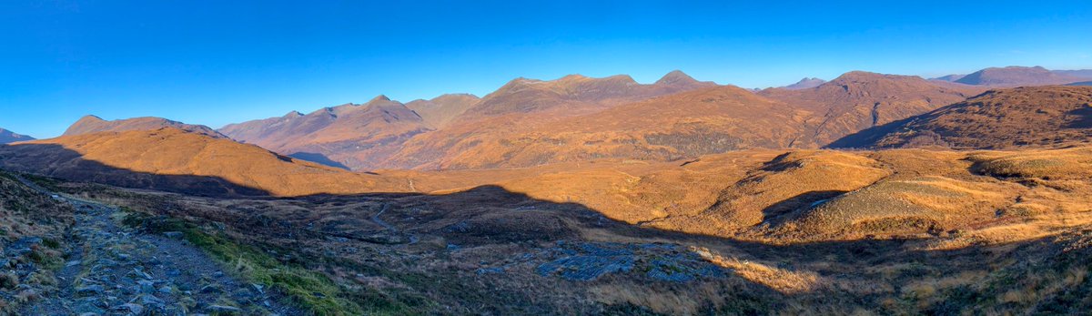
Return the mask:
POLYGON ((22 315, 296 315, 259 284, 242 282, 180 233, 142 234, 118 224, 118 208, 54 195, 71 203, 67 262, 58 291, 44 293, 22 315))

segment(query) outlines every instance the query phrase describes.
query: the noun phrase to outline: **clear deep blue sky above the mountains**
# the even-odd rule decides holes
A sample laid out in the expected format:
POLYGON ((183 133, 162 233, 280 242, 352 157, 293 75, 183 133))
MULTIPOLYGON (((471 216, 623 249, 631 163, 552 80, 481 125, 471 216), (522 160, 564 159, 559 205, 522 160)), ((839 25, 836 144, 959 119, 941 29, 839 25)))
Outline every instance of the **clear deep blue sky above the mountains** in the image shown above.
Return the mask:
POLYGON ((2 1, 0 127, 48 138, 95 114, 218 128, 569 73, 765 87, 1092 68, 1088 0, 729 2, 2 1))

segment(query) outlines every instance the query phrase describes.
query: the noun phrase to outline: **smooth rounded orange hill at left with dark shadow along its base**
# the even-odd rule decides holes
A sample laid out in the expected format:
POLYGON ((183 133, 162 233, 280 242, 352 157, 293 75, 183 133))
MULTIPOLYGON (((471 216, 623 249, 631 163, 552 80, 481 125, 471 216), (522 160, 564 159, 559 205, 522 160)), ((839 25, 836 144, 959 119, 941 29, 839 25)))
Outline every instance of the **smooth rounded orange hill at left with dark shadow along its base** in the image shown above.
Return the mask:
POLYGON ((0 167, 190 195, 402 190, 401 184, 380 176, 349 173, 177 128, 98 132, 2 145, 0 167))

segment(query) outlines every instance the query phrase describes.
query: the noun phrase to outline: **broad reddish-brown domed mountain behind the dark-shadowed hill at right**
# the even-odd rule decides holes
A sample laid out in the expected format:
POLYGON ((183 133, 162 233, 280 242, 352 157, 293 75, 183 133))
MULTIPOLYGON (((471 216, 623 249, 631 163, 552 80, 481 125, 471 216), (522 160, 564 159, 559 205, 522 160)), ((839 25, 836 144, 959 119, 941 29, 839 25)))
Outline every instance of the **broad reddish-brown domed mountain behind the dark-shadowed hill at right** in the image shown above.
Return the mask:
POLYGON ((805 90, 768 89, 759 95, 811 112, 793 145, 819 147, 863 129, 919 115, 980 93, 918 77, 854 71, 805 90))

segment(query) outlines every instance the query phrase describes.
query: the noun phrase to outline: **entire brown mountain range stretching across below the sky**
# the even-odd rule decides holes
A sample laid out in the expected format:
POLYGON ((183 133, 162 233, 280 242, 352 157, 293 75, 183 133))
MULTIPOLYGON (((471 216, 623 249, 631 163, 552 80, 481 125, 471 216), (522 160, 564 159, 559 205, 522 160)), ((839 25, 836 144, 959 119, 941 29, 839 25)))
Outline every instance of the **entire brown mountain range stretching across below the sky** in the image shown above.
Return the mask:
MULTIPOLYGON (((379 95, 364 104, 309 114, 292 112, 219 130, 153 117, 107 121, 86 116, 62 139, 173 128, 357 172, 529 167, 597 159, 675 161, 745 149, 892 147, 922 144, 924 138, 897 141, 878 131, 925 132, 917 126, 924 121, 919 115, 938 115, 936 110, 971 102, 970 97, 990 89, 958 81, 975 78, 1004 85, 1023 78, 1017 74, 1029 73, 1038 79, 1065 78, 1042 68, 1016 67, 985 69, 957 82, 853 71, 829 82, 805 79, 761 91, 701 82, 681 71, 652 84, 637 83, 628 75, 521 78, 484 97, 447 94, 403 104, 379 95), (911 122, 915 125, 894 128, 911 122)), ((983 97, 1037 92, 990 92, 983 97)), ((1052 100, 1042 93, 1025 98, 1052 100)), ((1079 115, 1082 109, 1071 110, 1079 115)), ((1070 138, 1079 137, 1065 139, 1070 138)))

